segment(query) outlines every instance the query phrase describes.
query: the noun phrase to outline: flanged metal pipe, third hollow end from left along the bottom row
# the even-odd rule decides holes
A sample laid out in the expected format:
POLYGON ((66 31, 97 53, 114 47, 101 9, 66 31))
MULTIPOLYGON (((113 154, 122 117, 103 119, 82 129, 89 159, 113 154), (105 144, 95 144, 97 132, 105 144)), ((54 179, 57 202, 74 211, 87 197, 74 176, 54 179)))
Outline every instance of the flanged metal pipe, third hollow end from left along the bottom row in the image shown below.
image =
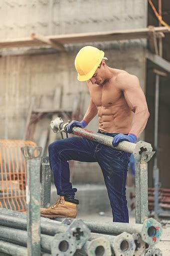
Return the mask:
POLYGON ((96 237, 104 237, 110 242, 112 255, 126 256, 133 255, 135 252, 136 245, 133 236, 127 232, 123 232, 116 236, 91 232, 91 239, 95 239, 96 237))

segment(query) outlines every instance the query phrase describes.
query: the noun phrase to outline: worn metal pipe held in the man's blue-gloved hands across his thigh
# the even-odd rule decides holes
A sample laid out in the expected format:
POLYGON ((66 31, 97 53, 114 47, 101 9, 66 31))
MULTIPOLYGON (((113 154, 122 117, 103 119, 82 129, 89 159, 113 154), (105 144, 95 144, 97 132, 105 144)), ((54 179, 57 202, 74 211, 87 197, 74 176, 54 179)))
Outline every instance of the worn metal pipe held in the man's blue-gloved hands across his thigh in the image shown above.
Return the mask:
MULTIPOLYGON (((57 117, 55 120, 51 121, 50 126, 54 133, 59 133, 59 132, 65 132, 65 128, 66 128, 67 124, 68 123, 65 123, 61 117, 57 117)), ((73 127, 72 134, 75 134, 78 136, 83 136, 91 141, 95 141, 95 142, 98 142, 98 143, 101 143, 103 145, 113 148, 113 146, 112 146, 113 138, 110 136, 99 134, 99 133, 94 133, 92 131, 82 129, 80 127, 73 127)), ((119 149, 119 150, 126 151, 128 153, 133 153, 137 159, 140 158, 140 154, 143 151, 147 151, 147 152, 152 151, 151 145, 147 142, 142 142, 142 141, 139 141, 136 144, 130 143, 127 141, 123 141, 123 142, 120 142, 118 144, 118 146, 116 146, 115 148, 119 149)))

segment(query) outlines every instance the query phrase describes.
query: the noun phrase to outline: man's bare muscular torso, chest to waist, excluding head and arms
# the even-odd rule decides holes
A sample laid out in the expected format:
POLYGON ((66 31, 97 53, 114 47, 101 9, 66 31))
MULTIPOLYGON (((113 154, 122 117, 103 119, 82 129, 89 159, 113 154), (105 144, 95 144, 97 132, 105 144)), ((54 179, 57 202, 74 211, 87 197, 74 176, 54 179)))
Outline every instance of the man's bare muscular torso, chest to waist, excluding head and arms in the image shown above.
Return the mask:
POLYGON ((112 69, 113 77, 103 85, 87 83, 99 120, 99 129, 107 133, 128 134, 131 129, 133 113, 119 88, 117 75, 126 73, 112 69))

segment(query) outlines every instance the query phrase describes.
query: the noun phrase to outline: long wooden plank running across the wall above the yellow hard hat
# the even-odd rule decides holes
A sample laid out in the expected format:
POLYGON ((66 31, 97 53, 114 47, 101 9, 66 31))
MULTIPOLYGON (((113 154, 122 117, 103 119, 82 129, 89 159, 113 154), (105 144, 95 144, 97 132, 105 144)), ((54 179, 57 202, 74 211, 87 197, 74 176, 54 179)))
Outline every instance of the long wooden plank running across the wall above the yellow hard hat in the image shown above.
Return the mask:
MULTIPOLYGON (((169 33, 170 29, 167 27, 154 27, 155 36, 159 33, 169 33)), ((114 41, 114 40, 129 40, 147 38, 149 33, 148 28, 131 29, 131 30, 112 30, 106 32, 90 32, 90 33, 76 33, 64 35, 51 35, 51 36, 36 36, 37 38, 25 37, 10 40, 1 40, 0 48, 9 47, 23 47, 23 46, 41 46, 49 44, 53 47, 59 46, 63 48, 62 44, 81 43, 81 42, 101 42, 101 41, 114 41), (35 40, 37 39, 37 40, 35 40), (62 45, 62 46, 61 46, 62 45)))

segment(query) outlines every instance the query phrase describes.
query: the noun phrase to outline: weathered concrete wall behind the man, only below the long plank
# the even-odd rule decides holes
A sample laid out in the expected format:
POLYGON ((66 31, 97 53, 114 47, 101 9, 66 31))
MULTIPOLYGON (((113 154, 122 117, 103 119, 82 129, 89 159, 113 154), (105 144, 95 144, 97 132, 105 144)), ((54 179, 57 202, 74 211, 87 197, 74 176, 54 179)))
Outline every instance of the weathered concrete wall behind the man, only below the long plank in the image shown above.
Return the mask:
MULTIPOLYGON (((130 48, 105 50, 108 65, 135 74, 144 89, 144 49, 137 45, 130 48)), ((86 111, 89 93, 85 82, 77 80, 74 58, 77 52, 46 55, 6 56, 0 58, 1 72, 1 138, 22 139, 31 98, 36 106, 53 108, 56 86, 63 87, 62 107, 72 107, 78 92, 84 92, 86 111)), ((97 130, 97 119, 88 128, 97 130)), ((42 127, 42 125, 41 125, 42 127)))

